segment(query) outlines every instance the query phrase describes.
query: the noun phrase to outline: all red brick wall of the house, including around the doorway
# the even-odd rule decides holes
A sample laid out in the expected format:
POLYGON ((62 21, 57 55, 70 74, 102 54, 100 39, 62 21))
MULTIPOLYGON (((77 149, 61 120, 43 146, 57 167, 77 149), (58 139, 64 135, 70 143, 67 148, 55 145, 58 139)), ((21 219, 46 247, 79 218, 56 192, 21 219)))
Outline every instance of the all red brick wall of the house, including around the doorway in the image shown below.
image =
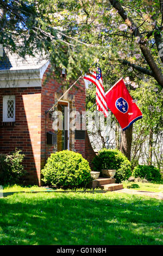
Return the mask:
MULTIPOLYGON (((37 185, 41 185, 41 169, 48 156, 54 151, 54 146, 46 143, 47 131, 53 131, 53 119, 45 111, 52 107, 54 101, 57 100, 56 93, 62 92, 61 84, 53 78, 44 83, 48 70, 49 67, 43 75, 42 87, 0 89, 0 153, 10 153, 15 148, 21 149, 22 153, 26 155, 23 164, 28 172, 24 180, 37 185), (12 126, 9 124, 4 126, 2 123, 3 95, 15 95, 16 120, 12 126)), ((76 111, 82 114, 82 111, 85 111, 83 79, 76 86, 78 89, 73 88, 68 95, 72 99, 76 111)), ((90 155, 93 153, 87 135, 86 141, 79 139, 74 141, 74 150, 90 159, 90 155)))

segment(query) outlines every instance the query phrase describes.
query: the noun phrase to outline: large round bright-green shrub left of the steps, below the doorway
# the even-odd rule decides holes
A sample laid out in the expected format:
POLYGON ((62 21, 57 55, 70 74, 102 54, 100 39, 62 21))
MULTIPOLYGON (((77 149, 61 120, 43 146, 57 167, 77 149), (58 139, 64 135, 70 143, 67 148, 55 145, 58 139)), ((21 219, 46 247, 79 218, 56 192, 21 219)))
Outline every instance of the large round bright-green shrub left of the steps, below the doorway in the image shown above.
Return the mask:
POLYGON ((85 187, 92 180, 90 172, 87 160, 81 154, 69 150, 51 154, 41 170, 46 185, 65 190, 85 187))

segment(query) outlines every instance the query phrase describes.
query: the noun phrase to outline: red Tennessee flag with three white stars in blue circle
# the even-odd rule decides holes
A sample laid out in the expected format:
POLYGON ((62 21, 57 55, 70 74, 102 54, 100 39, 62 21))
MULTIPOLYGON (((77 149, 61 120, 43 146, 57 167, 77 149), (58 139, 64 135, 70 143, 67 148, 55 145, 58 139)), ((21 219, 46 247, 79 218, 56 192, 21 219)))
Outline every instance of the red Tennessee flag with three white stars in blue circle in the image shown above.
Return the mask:
POLYGON ((123 78, 118 80, 108 92, 105 93, 106 103, 111 112, 115 115, 123 131, 133 124, 136 120, 142 118, 142 113, 133 102, 123 78))

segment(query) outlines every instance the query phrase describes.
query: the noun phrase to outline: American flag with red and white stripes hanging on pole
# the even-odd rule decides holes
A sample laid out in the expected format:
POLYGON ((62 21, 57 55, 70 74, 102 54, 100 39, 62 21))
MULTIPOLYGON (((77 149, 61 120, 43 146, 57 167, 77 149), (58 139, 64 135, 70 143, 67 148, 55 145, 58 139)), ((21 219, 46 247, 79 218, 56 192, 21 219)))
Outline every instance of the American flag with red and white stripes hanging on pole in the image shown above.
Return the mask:
POLYGON ((106 104, 101 69, 97 68, 97 72, 90 72, 89 74, 86 74, 83 78, 95 84, 97 110, 102 111, 104 116, 108 117, 108 106, 106 104))

